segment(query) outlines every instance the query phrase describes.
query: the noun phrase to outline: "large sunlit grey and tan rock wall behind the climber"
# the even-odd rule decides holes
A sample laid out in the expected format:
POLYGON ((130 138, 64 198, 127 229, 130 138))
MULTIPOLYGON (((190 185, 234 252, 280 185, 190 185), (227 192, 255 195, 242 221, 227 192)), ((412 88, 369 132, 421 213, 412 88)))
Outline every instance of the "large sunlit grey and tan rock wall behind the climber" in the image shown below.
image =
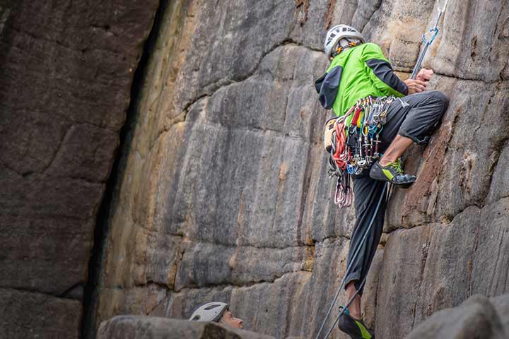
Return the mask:
MULTIPOLYGON (((331 200, 321 145, 324 32, 353 25, 407 76, 439 5, 171 1, 124 148, 96 320, 187 317, 218 299, 252 331, 311 338, 354 218, 331 200)), ((419 181, 390 203, 365 292, 378 338, 509 291, 508 13, 508 1, 450 0, 425 59, 451 102, 431 145, 409 151, 419 181)))

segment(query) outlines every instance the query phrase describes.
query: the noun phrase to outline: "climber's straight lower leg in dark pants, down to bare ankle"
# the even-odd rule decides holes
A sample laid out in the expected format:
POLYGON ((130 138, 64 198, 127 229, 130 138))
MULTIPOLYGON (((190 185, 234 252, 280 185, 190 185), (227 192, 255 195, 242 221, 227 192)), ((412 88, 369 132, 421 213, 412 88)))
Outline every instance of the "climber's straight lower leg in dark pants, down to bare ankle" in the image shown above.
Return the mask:
POLYGON ((346 267, 351 266, 351 268, 349 270, 349 275, 347 275, 345 279, 345 286, 347 294, 346 300, 349 300, 349 298, 359 290, 358 298, 353 299, 355 304, 351 305, 351 314, 357 319, 361 319, 361 296, 363 293, 361 282, 368 274, 378 242, 380 242, 380 237, 382 236, 386 201, 385 197, 382 197, 382 201, 380 201, 380 197, 382 196, 384 186, 385 182, 373 180, 367 173, 353 178, 353 194, 355 195, 354 200, 357 219, 353 227, 348 259, 346 261, 346 267), (379 201, 380 207, 373 218, 379 201), (368 230, 372 219, 373 225, 361 246, 364 234, 368 230), (355 254, 359 246, 361 247, 355 260, 353 260, 353 254, 355 254))

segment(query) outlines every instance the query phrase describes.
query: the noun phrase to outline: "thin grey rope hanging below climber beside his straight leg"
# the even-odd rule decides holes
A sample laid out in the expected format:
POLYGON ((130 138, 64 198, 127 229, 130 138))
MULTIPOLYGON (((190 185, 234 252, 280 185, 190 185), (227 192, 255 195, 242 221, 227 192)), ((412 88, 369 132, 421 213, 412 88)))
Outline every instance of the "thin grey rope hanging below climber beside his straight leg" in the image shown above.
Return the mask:
MULTIPOLYGON (((327 319, 329 319, 329 316, 330 316, 330 313, 332 311, 332 308, 334 307, 334 304, 336 304, 337 298, 339 297, 339 293, 341 292, 341 290, 343 290, 344 283, 346 281, 346 278, 350 274, 350 270, 353 267, 353 263, 356 261, 357 256, 358 256, 359 252, 361 251, 361 248, 362 248, 366 238, 368 237, 368 234, 370 233, 371 227, 373 227, 373 221, 375 221, 375 217, 378 214, 378 210, 380 209, 380 203, 382 203, 382 199, 385 198, 386 201, 387 201, 386 193, 387 193, 387 186, 389 186, 389 185, 390 184, 388 184, 388 183, 384 184, 384 188, 382 190, 382 194, 380 194, 380 198, 378 199, 378 203, 377 203, 377 206, 375 208, 375 213, 373 213, 373 217, 371 217, 370 223, 369 223, 368 227, 366 228, 366 230, 365 230, 365 232, 363 234, 361 242, 359 243, 359 245, 355 249, 355 251, 353 251, 353 256, 351 257, 350 265, 346 268, 346 272, 345 272, 345 274, 343 276, 343 279, 341 280, 341 284, 339 285, 339 289, 337 290, 336 295, 334 295, 334 299, 332 299, 332 303, 331 303, 331 305, 329 307, 329 310, 327 311, 327 314, 325 315, 324 320, 322 321, 322 326, 320 326, 320 330, 318 330, 318 333, 317 333, 315 339, 319 339, 320 338, 320 334, 323 331, 323 328, 325 326, 325 323, 327 322, 327 319)), ((355 292, 355 294, 346 302, 346 304, 344 304, 343 309, 339 312, 339 315, 337 316, 337 318, 334 321, 334 323, 332 323, 332 326, 329 328, 329 331, 327 331, 324 339, 329 338, 329 335, 332 332, 332 329, 334 328, 334 326, 336 326, 336 323, 339 321, 339 317, 342 314, 344 314, 345 309, 348 309, 348 307, 350 306, 351 302, 353 301, 353 298, 355 298, 356 295, 358 294, 358 292, 362 289, 362 287, 363 287, 363 285, 365 283, 366 278, 367 278, 367 276, 364 277, 364 279, 361 282, 361 286, 358 288, 358 290, 355 292)))

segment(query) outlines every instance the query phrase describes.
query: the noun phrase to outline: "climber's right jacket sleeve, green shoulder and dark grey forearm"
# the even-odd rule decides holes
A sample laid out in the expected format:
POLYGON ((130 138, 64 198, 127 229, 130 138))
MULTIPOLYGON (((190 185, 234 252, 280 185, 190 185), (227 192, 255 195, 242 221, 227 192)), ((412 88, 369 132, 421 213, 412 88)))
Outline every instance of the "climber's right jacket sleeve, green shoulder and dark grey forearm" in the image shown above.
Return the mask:
POLYGON ((365 71, 371 81, 384 95, 404 97, 408 94, 406 83, 401 81, 377 44, 366 44, 362 54, 365 71))

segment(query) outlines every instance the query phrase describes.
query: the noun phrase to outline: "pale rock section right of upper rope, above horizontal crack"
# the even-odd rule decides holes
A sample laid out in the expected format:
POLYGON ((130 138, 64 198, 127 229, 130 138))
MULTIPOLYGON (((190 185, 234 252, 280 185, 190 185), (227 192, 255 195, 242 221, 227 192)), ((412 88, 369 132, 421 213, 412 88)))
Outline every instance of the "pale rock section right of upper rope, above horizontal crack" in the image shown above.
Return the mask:
MULTIPOLYGON (((456 78, 478 79, 486 83, 498 81, 509 54, 508 4, 505 1, 474 1, 470 6, 464 5, 460 1, 447 4, 440 25, 440 43, 432 46, 424 64, 438 73, 456 78), (459 22, 468 25, 457 25, 459 22)), ((428 23, 430 28, 438 6, 437 1, 428 23)))

